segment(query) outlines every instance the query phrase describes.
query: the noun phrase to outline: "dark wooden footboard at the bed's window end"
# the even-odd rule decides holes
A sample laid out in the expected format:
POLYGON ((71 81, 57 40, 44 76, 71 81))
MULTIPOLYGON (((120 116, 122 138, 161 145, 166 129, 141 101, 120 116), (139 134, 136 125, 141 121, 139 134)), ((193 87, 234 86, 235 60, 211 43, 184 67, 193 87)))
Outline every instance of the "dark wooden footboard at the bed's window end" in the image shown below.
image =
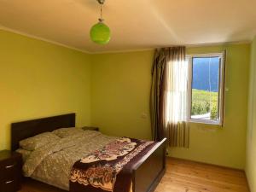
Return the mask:
POLYGON ((153 192, 166 171, 166 138, 157 143, 133 170, 132 191, 153 192))

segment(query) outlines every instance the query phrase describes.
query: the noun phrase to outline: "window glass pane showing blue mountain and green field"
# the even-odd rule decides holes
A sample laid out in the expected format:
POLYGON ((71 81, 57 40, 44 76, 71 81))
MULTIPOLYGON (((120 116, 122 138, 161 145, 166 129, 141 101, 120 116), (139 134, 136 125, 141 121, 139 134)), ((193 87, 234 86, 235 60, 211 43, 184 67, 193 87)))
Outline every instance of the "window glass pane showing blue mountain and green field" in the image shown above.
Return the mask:
POLYGON ((218 120, 220 57, 192 58, 191 119, 218 120))

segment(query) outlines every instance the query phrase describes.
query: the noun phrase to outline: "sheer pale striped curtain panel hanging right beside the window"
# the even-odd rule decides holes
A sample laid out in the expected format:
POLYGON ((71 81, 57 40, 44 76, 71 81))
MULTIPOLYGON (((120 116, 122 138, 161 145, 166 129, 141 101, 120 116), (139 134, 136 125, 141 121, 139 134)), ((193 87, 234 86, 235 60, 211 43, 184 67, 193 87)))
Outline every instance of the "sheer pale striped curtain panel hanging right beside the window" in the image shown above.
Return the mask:
POLYGON ((166 137, 171 147, 189 148, 189 63, 184 47, 171 49, 166 73, 166 137))

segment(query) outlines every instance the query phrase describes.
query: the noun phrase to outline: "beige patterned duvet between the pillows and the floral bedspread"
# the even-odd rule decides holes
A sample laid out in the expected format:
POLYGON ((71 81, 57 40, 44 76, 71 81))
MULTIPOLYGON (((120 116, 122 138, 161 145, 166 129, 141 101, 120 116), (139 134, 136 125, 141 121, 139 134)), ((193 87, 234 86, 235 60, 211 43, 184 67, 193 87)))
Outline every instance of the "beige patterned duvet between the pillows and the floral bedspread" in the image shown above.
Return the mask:
POLYGON ((26 177, 69 190, 73 164, 116 139, 118 137, 109 137, 98 131, 84 131, 83 134, 61 138, 27 155, 24 159, 23 173, 26 177))

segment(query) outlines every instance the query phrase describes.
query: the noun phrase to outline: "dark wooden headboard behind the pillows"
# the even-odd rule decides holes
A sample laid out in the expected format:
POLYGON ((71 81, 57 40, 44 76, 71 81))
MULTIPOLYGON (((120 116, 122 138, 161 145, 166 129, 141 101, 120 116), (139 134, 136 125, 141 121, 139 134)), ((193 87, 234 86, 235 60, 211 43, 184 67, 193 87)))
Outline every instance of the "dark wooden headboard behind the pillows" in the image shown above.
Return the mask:
POLYGON ((54 131, 61 127, 74 127, 76 114, 62 114, 42 119, 32 119, 11 124, 11 149, 19 148, 19 142, 42 132, 54 131))

